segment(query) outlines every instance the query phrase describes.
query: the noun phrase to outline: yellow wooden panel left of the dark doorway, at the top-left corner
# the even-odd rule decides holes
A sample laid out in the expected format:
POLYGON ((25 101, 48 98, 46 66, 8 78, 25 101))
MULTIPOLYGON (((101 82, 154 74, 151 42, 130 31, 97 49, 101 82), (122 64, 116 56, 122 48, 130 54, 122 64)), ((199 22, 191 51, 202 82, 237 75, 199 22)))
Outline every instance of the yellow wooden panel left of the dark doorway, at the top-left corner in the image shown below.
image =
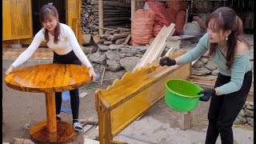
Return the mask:
POLYGON ((32 38, 31 1, 5 0, 3 4, 3 40, 32 38))

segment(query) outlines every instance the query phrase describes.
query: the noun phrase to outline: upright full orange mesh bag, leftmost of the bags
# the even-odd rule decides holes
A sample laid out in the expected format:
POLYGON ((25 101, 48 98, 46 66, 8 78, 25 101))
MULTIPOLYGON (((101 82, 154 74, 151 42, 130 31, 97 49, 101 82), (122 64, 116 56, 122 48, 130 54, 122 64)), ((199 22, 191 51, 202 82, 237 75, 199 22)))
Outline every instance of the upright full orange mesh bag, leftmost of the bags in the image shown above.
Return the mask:
POLYGON ((131 45, 145 45, 153 38, 155 14, 152 10, 139 9, 131 22, 131 45))

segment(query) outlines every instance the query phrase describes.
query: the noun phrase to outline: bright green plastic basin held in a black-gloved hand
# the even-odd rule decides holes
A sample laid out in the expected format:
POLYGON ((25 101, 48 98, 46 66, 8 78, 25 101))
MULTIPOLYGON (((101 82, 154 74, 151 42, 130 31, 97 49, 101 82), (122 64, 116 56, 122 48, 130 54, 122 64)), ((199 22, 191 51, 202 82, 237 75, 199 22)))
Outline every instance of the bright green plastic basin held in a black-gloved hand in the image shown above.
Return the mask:
POLYGON ((203 96, 203 94, 198 95, 201 90, 202 88, 193 82, 183 79, 170 79, 166 81, 166 104, 177 111, 194 110, 198 106, 199 98, 203 96))

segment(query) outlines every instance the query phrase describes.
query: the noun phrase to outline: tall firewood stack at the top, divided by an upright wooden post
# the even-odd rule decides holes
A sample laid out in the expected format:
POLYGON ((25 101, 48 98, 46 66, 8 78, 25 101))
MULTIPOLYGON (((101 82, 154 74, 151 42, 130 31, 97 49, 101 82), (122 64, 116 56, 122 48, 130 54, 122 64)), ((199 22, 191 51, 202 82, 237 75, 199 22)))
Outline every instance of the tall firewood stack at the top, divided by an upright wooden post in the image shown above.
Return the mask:
MULTIPOLYGON (((98 34, 98 1, 82 0, 82 30, 85 34, 98 34)), ((130 26, 130 1, 103 1, 103 26, 117 28, 130 26)))

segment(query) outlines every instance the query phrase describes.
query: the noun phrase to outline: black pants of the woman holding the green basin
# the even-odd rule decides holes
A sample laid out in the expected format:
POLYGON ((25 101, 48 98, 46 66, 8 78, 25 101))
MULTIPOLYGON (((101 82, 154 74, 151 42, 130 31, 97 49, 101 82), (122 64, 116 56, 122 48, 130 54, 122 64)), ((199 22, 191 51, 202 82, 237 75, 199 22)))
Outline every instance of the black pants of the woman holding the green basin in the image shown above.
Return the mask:
MULTIPOLYGON (((230 82, 230 77, 218 74, 214 87, 222 86, 227 82, 230 82)), ((218 134, 221 135, 222 144, 233 144, 233 122, 246 102, 251 82, 252 71, 250 70, 245 74, 240 90, 231 94, 214 95, 211 97, 206 144, 215 144, 218 134)))

